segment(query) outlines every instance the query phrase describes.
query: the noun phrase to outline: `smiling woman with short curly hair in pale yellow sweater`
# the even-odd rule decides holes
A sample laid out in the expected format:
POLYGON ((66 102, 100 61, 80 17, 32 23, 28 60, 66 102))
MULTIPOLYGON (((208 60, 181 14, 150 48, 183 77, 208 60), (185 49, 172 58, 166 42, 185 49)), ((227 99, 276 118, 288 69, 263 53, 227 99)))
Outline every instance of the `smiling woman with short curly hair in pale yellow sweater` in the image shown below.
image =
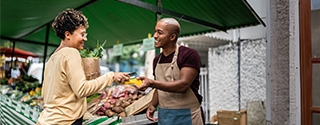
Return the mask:
POLYGON ((114 81, 123 83, 130 76, 110 72, 86 80, 79 50, 87 41, 89 25, 81 12, 73 9, 61 12, 52 27, 61 43, 46 63, 42 86, 44 110, 37 125, 82 124, 87 110, 86 97, 102 91, 114 81))

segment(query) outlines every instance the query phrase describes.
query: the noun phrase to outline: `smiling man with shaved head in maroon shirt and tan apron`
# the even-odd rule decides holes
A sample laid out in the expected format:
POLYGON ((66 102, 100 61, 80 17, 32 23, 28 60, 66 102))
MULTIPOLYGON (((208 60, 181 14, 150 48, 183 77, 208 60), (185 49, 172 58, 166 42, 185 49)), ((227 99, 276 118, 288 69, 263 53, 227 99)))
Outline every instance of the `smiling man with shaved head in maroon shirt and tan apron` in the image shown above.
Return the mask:
POLYGON ((201 101, 198 93, 201 60, 194 49, 177 45, 180 24, 173 18, 163 18, 154 31, 155 47, 162 53, 153 60, 155 80, 143 81, 139 89, 156 88, 147 110, 147 118, 159 125, 203 125, 201 101), (158 118, 154 118, 159 106, 158 118))

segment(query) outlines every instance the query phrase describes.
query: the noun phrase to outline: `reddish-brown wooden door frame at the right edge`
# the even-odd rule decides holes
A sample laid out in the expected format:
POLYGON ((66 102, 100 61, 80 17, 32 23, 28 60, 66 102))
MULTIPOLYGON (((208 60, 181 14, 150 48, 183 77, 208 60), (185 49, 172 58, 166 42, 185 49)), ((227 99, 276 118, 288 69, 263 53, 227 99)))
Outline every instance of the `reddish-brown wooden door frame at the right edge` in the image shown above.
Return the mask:
POLYGON ((300 1, 302 125, 320 124, 320 2, 300 1))

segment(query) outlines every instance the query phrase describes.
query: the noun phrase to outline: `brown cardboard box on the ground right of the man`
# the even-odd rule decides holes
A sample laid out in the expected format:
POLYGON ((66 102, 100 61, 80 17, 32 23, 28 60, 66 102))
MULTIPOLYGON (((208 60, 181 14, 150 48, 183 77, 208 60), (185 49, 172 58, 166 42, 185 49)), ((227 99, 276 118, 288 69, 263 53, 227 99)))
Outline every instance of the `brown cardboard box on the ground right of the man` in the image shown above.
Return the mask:
POLYGON ((217 111, 218 124, 219 125, 246 125, 247 115, 245 110, 241 111, 229 111, 220 110, 217 111))

